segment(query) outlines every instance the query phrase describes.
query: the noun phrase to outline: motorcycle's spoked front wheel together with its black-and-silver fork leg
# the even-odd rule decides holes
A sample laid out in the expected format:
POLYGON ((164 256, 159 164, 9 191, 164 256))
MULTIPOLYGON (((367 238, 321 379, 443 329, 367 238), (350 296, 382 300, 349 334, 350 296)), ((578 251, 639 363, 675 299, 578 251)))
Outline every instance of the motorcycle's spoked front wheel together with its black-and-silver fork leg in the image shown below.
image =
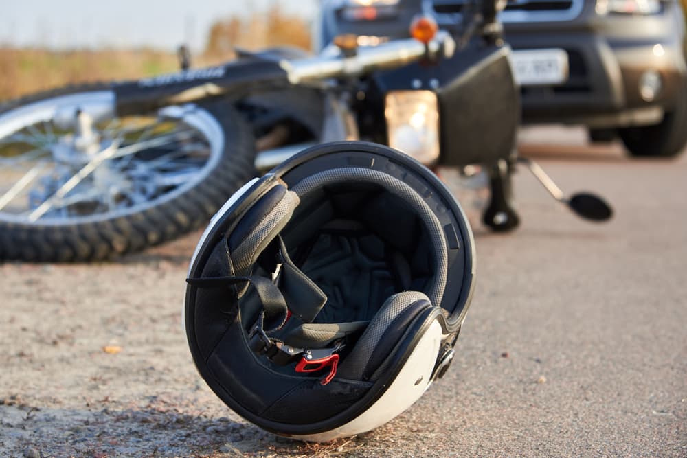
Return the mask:
POLYGON ((99 260, 205 225, 257 175, 249 95, 450 56, 449 34, 356 56, 244 56, 220 67, 73 87, 0 111, 0 258, 99 260))

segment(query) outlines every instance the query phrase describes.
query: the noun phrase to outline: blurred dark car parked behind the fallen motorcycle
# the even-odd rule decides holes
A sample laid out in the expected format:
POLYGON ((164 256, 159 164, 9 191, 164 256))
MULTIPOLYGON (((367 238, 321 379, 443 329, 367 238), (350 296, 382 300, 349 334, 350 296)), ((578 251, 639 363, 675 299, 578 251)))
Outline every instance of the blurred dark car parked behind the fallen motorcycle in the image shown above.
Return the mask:
MULTIPOLYGON (((469 0, 328 3, 336 7, 324 9, 319 43, 341 33, 403 38, 418 12, 460 34, 471 8, 469 0)), ((499 19, 524 123, 583 124, 595 141, 618 135, 633 156, 684 149, 687 66, 677 0, 508 0, 499 19)))

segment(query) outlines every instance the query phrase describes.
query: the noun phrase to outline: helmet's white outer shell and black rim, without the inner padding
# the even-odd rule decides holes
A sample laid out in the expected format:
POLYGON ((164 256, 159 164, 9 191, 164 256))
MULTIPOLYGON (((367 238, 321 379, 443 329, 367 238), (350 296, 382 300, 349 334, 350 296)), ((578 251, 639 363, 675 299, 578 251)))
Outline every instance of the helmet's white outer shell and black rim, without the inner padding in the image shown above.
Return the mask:
MULTIPOLYGON (((422 395, 438 372, 443 373, 445 367, 440 366, 450 362, 447 355, 450 350, 452 356, 473 293, 473 236, 451 192, 407 155, 358 141, 309 148, 247 183, 212 218, 192 258, 189 277, 227 275, 223 240, 277 183, 293 189, 320 172, 346 168, 384 174, 411 187, 436 216, 446 244, 447 275, 440 304, 422 310, 407 325, 379 378, 366 382, 334 378, 322 385, 280 371, 249 349, 241 312, 226 305, 231 302, 227 291, 192 285, 186 291, 183 322, 201 376, 236 413, 280 435, 329 440, 369 431, 401 413, 422 395)), ((298 225, 297 213, 286 229, 293 225, 298 225)))

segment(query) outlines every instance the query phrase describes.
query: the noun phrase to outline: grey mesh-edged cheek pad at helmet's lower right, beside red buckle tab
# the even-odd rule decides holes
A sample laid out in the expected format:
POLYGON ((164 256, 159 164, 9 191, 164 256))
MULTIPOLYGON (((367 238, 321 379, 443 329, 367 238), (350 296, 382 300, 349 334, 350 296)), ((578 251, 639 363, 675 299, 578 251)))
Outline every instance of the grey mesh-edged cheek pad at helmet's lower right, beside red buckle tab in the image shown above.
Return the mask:
POLYGON ((417 314, 431 307, 419 291, 403 291, 387 299, 370 325, 339 365, 338 376, 349 380, 372 380, 417 314))

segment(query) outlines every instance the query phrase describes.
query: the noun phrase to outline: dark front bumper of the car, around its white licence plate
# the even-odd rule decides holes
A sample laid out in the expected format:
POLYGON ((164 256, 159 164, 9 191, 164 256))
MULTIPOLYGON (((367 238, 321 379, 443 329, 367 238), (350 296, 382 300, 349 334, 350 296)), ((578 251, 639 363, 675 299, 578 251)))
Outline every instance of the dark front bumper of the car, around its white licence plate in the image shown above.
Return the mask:
POLYGON ((506 41, 519 49, 564 49, 567 81, 521 88, 523 122, 564 122, 616 127, 660 122, 675 104, 684 84, 682 43, 656 36, 609 38, 590 30, 508 33, 506 41), (640 80, 646 71, 660 75, 661 89, 652 100, 642 98, 640 80))

